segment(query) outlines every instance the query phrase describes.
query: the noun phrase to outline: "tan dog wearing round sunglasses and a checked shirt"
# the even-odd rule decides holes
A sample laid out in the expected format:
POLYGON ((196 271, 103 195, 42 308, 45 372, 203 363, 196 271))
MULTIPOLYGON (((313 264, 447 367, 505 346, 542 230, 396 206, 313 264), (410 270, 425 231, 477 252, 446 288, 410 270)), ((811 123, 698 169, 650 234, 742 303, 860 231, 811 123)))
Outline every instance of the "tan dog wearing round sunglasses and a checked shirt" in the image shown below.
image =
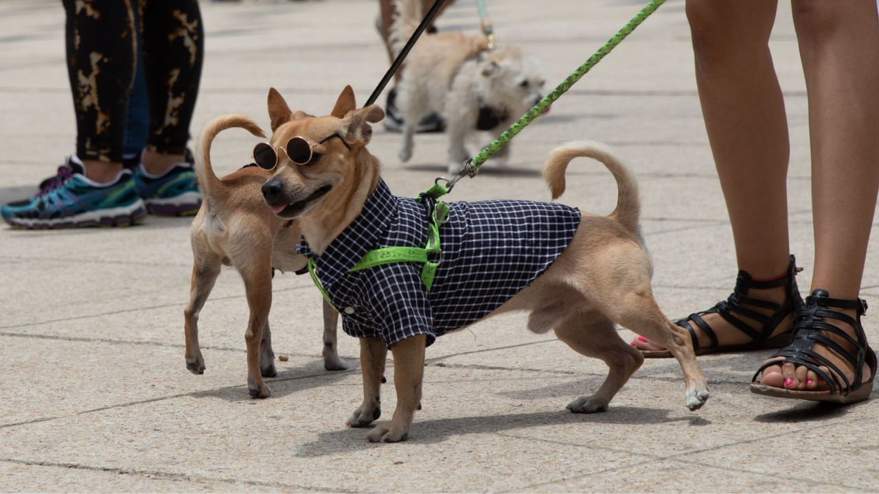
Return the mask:
MULTIPOLYGON (((276 94, 272 92, 272 95, 276 94)), ((449 270, 460 270, 463 283, 469 285, 495 278, 499 282, 488 281, 496 283, 493 286, 500 289, 507 287, 508 277, 518 271, 513 268, 500 273, 485 270, 481 265, 459 264, 463 254, 456 250, 455 242, 461 237, 461 218, 467 216, 463 222, 472 224, 479 208, 502 209, 517 202, 538 212, 572 212, 577 214, 578 223, 569 230, 570 242, 565 240, 560 254, 553 258, 546 271, 525 287, 513 287, 518 293, 499 302, 497 308, 489 309, 487 316, 527 310, 531 313, 528 321, 531 331, 553 330, 576 352, 607 363, 607 380, 598 391, 574 400, 568 409, 576 413, 607 410, 616 392, 643 363, 641 353, 620 338, 614 323, 637 331, 672 352, 683 370, 686 406, 690 410, 700 408, 708 399, 707 382, 690 346, 688 332, 670 323, 653 299, 650 289, 652 268, 638 229, 637 185, 609 150, 595 143, 570 143, 551 151, 544 169, 552 195, 557 198, 564 191, 564 172, 570 160, 585 156, 604 163, 619 188, 617 207, 609 216, 579 213, 563 205, 523 201, 452 204, 447 222, 439 229, 442 257, 432 291, 429 291, 431 289, 425 288, 423 278, 418 277, 422 268, 417 263, 392 263, 350 272, 348 265, 337 262, 345 252, 351 253, 345 261, 348 262, 353 256, 360 255, 360 251, 376 247, 424 245, 425 239, 420 236, 426 231, 427 222, 423 203, 390 195, 379 176, 379 160, 366 149, 372 134, 368 124, 381 121, 384 117, 381 108, 370 105, 357 109, 353 91, 348 86, 330 116, 294 114, 280 95, 269 98, 269 113, 274 130, 271 144, 279 148, 286 143, 290 153, 287 156, 290 157, 280 154, 277 171, 263 185, 265 201, 281 220, 299 220, 307 243, 301 244, 300 249, 307 248, 316 255, 316 276, 323 280, 323 287, 334 304, 344 308, 345 332, 360 337, 364 401, 348 419, 348 425, 367 426, 380 416, 379 389, 388 347, 393 353, 396 411, 389 424, 378 425, 367 434, 368 440, 394 442, 408 437, 421 402, 425 345, 430 345, 433 338, 432 328, 421 327, 426 331, 411 334, 411 330, 418 327, 418 318, 413 318, 412 314, 430 315, 432 310, 431 320, 437 324, 436 333, 445 331, 439 327, 442 317, 454 319, 456 314, 454 310, 450 314, 444 304, 449 303, 448 297, 454 303, 461 302, 454 297, 461 297, 461 292, 468 289, 463 284, 455 284, 449 289, 449 280, 454 278, 454 273, 449 270), (309 147, 298 146, 303 142, 308 142, 309 147), (289 149, 301 149, 302 152, 290 152, 289 149), (456 208, 458 213, 455 213, 456 208), (462 210, 465 213, 462 214, 462 210), (387 222, 375 226, 379 223, 376 218, 381 217, 388 218, 387 222), (387 241, 388 236, 383 232, 396 231, 396 225, 406 221, 420 229, 418 235, 404 237, 410 238, 409 241, 387 241), (361 241, 343 240, 340 243, 341 239, 351 240, 352 231, 361 241), (370 235, 382 240, 373 243, 367 238, 370 235), (384 275, 393 278, 382 278, 384 275), (389 280, 393 282, 388 283, 389 280), (445 314, 441 315, 444 310, 445 314), (374 333, 361 332, 365 330, 374 333)), ((553 223, 545 223, 543 219, 536 215, 522 215, 513 217, 512 221, 504 220, 501 243, 490 245, 492 253, 486 252, 485 256, 478 258, 484 261, 505 256, 503 245, 515 242, 514 237, 520 231, 540 232, 547 229, 547 224, 548 229, 552 229, 553 223)), ((489 215, 488 222, 494 221, 495 218, 489 215)), ((484 215, 478 222, 485 222, 484 215)), ((468 237, 478 234, 476 229, 466 229, 465 233, 468 237)), ((539 251, 541 240, 542 237, 525 238, 526 250, 539 251)), ((468 244, 468 249, 471 247, 473 245, 468 244)), ((357 259, 353 259, 356 262, 357 259)), ((491 264, 490 269, 493 267, 491 264)), ((464 298, 463 302, 467 304, 482 301, 479 297, 464 298)), ((456 305, 452 309, 460 307, 456 305)), ((449 331, 455 329, 461 327, 449 327, 449 331)))

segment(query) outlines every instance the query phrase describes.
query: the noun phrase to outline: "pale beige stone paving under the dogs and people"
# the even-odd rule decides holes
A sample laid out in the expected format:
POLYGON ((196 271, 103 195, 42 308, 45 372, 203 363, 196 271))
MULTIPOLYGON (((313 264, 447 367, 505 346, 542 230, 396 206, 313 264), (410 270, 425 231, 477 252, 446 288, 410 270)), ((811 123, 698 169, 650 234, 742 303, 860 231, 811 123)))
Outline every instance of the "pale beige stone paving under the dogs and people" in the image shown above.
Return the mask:
MULTIPOLYGON (((516 42, 559 81, 639 8, 635 1, 526 0, 490 4, 500 39, 516 42)), ((789 5, 772 49, 791 126, 793 251, 812 261, 806 99, 789 5)), ((352 84, 366 98, 386 67, 371 0, 203 4, 207 58, 193 129, 221 113, 267 127, 275 86, 296 108, 328 113, 352 84)), ((461 1, 440 28, 476 25, 461 1)), ((74 118, 63 62, 60 2, 0 4, 0 200, 33 193, 72 149, 74 118)), ((542 157, 564 140, 609 142, 643 187, 643 229, 657 299, 670 316, 707 308, 736 273, 730 228, 701 121, 683 3, 669 2, 516 139, 512 168, 486 166, 455 199, 546 200, 542 157)), ((373 152, 399 194, 443 170, 445 140, 419 135, 412 163, 398 134, 377 128, 373 152)), ((222 135, 215 166, 232 171, 253 140, 222 135)), ((615 187, 595 163, 569 172, 566 201, 597 212, 615 187)), ((713 396, 686 410, 679 368, 648 361, 611 410, 572 415, 564 405, 595 389, 604 365, 523 316, 439 339, 428 353, 425 410, 411 439, 370 445, 345 418, 360 402, 357 342, 351 365, 323 371, 320 296, 304 277, 276 278, 275 348, 290 354, 251 400, 244 385, 241 282, 226 272, 201 317, 207 373, 183 361, 190 266, 187 220, 150 218, 134 229, 0 229, 0 490, 90 491, 876 491, 873 403, 835 408, 753 396, 747 382, 765 353, 701 359, 713 396)), ((869 253, 863 296, 879 299, 869 253)), ((879 327, 867 319, 868 334, 879 327)), ((628 331, 623 331, 630 338, 628 331)), ((389 368, 389 378, 393 368, 389 368)), ((385 410, 393 410, 392 388, 385 410)), ((382 418, 384 419, 384 418, 382 418)))

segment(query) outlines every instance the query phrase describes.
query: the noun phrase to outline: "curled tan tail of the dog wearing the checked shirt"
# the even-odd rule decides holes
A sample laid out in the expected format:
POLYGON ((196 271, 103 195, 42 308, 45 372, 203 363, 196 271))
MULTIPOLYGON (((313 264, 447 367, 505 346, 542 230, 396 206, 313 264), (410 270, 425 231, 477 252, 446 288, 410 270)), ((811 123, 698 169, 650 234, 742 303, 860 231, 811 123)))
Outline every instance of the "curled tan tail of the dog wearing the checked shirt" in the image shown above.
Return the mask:
POLYGON ((553 200, 564 193, 564 173, 568 170, 570 160, 578 157, 592 158, 607 166, 607 170, 616 179, 618 191, 616 209, 610 216, 630 231, 636 231, 638 214, 641 212, 638 183, 614 152, 599 142, 567 142, 549 151, 547 161, 543 165, 543 179, 547 181, 553 200))

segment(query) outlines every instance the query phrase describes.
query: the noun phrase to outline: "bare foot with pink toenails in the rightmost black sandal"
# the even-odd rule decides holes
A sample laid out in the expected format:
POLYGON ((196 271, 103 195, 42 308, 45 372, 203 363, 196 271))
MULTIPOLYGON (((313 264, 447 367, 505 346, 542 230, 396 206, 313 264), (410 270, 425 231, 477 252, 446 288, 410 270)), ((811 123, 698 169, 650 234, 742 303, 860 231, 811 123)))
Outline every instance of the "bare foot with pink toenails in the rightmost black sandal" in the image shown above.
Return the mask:
MULTIPOLYGON (((815 290, 812 292, 813 297, 815 295, 827 297, 827 293, 824 290, 815 290)), ((813 298, 813 297, 810 297, 813 298)), ((810 301, 807 299, 807 308, 804 309, 802 316, 797 318, 796 328, 803 328, 805 331, 800 331, 796 333, 797 339, 802 340, 806 347, 808 348, 810 341, 803 339, 803 333, 806 331, 810 331, 813 329, 818 329, 821 323, 832 324, 833 327, 839 328, 840 331, 846 334, 848 338, 851 338, 852 341, 859 342, 861 340, 861 335, 858 334, 858 330, 853 327, 851 324, 846 323, 843 320, 839 320, 829 316, 820 316, 815 315, 812 316, 810 313, 810 309, 813 306, 810 306, 810 301)), ((815 306, 817 307, 817 306, 815 306)), ((863 313, 862 310, 859 309, 842 309, 830 306, 824 306, 826 309, 829 309, 832 312, 841 313, 845 316, 851 318, 852 321, 857 322, 857 325, 860 326, 860 316, 863 313)), ((818 309, 820 310, 820 309, 818 309)), ((854 359, 857 359, 858 348, 856 345, 852 344, 852 341, 849 341, 848 338, 843 337, 833 331, 825 330, 825 331, 816 331, 817 335, 820 337, 828 338, 836 345, 848 352, 854 359)), ((795 340, 797 347, 801 347, 801 341, 795 340)), ((849 359, 846 359, 842 356, 842 354, 836 350, 833 350, 829 345, 825 345, 820 341, 814 341, 814 344, 811 345, 811 351, 817 353, 822 358, 828 360, 832 367, 836 367, 841 371, 841 374, 832 369, 832 367, 828 366, 817 366, 817 369, 824 373, 825 375, 831 376, 831 379, 834 381, 836 385, 837 392, 839 393, 839 388, 846 387, 846 382, 855 385, 858 383, 856 381, 855 371, 856 364, 849 359)), ((864 341, 863 345, 866 346, 866 341, 864 341)), ((787 352, 788 347, 783 349, 781 352, 787 352)), ((870 352, 867 349, 867 352, 870 352)), ((773 388, 780 389, 788 389, 788 390, 796 390, 796 391, 826 391, 830 390, 831 386, 820 377, 816 372, 810 369, 807 366, 795 365, 790 362, 781 362, 781 360, 785 360, 784 356, 774 356, 764 361, 763 365, 766 365, 770 362, 778 362, 777 365, 770 365, 763 369, 763 372, 760 373, 755 381, 758 381, 759 384, 764 386, 771 386, 773 388)), ((872 378, 871 369, 868 365, 868 361, 866 360, 861 367, 861 380, 860 383, 865 383, 870 381, 872 378)))

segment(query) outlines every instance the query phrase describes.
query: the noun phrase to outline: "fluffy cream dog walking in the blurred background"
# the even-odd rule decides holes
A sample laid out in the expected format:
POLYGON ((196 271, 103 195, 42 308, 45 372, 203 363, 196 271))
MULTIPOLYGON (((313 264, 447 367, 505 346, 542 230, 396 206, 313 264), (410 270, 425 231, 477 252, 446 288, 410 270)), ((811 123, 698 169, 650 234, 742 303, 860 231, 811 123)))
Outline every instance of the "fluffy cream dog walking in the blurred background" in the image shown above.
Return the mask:
MULTIPOLYGON (((421 20, 419 0, 396 2, 400 15, 391 25, 390 45, 400 52, 421 20)), ((481 35, 442 32, 423 36, 406 57, 397 85, 396 105, 403 116, 399 157, 409 161, 418 120, 436 112, 446 121, 449 173, 472 156, 467 139, 477 130, 504 129, 543 98, 545 79, 538 62, 519 47, 489 50, 481 35)), ((494 159, 505 164, 510 145, 494 159)))

